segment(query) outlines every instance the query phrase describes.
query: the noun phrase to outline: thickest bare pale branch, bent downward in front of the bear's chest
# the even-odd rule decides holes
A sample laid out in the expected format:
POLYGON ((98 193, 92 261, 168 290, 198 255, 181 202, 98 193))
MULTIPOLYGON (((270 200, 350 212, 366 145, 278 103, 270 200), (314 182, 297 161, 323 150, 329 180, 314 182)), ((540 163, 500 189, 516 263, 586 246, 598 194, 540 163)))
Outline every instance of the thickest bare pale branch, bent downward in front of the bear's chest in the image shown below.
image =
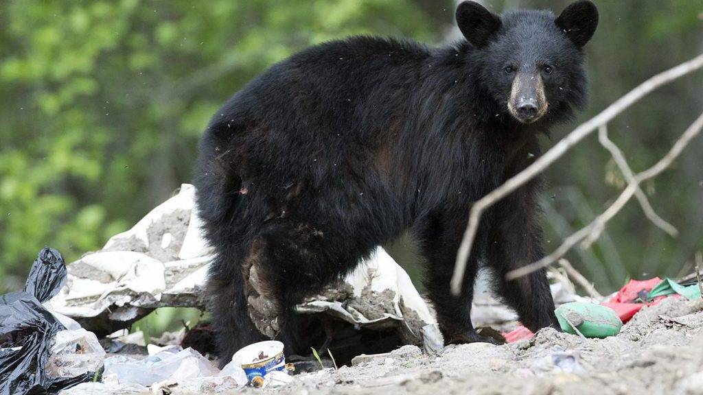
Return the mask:
POLYGON ((491 205, 494 205, 498 202, 498 200, 501 200, 509 193, 512 193, 512 191, 520 188, 520 186, 523 186, 529 180, 533 179, 534 176, 540 174, 550 164, 562 157, 562 155, 564 155, 569 148, 572 148, 576 145, 576 143, 579 143, 579 141, 588 136, 588 134, 591 134, 591 132, 593 132, 600 125, 606 124, 610 121, 610 119, 613 119, 620 112, 623 112, 626 108, 633 105, 633 103, 640 100, 640 98, 646 96, 647 93, 654 91, 654 89, 659 88, 659 86, 667 84, 678 77, 698 70, 701 67, 703 67, 703 54, 696 56, 688 62, 682 63, 681 65, 655 75, 650 79, 647 79, 647 81, 637 86, 625 96, 619 98, 615 101, 615 103, 612 103, 612 105, 600 112, 600 114, 574 129, 574 131, 569 133, 565 138, 554 145, 554 147, 548 150, 544 155, 539 157, 529 167, 523 171, 520 171, 520 173, 508 179, 508 181, 505 181, 503 185, 491 191, 491 193, 477 200, 471 208, 471 214, 469 216, 466 231, 464 232, 461 245, 456 255, 454 273, 451 278, 451 292, 455 295, 460 293, 464 273, 466 271, 466 261, 469 257, 471 247, 476 237, 479 219, 486 208, 491 207, 491 205))

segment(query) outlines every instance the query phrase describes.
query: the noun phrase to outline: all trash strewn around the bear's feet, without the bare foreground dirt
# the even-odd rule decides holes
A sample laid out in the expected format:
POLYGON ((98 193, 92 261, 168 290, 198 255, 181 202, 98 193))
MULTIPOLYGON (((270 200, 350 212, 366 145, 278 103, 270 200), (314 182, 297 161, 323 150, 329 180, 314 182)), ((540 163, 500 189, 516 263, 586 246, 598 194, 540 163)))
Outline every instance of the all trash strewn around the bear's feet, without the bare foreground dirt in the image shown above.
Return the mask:
MULTIPOLYGON (((394 371, 398 363, 406 369, 417 361, 457 372, 465 367, 454 363, 467 363, 457 350, 470 351, 475 363, 488 361, 494 370, 508 370, 505 361, 522 361, 522 365, 529 362, 529 375, 581 374, 586 371, 581 354, 569 347, 545 348, 541 354, 533 353, 532 359, 520 356, 520 350, 538 350, 533 345, 550 342, 570 344, 570 335, 583 341, 617 338, 621 342, 624 328, 631 328, 628 336, 635 339, 643 331, 632 328, 642 320, 623 325, 640 309, 656 309, 663 301, 701 298, 700 285, 692 276, 678 282, 631 280, 603 300, 580 297, 573 285, 559 281, 550 287, 565 333, 546 335, 542 330, 535 335, 496 299, 477 294, 472 306, 477 328, 488 325, 504 330, 492 330, 491 336, 512 343, 512 348, 467 344, 445 349, 431 306, 403 268, 378 247, 356 271, 297 306, 302 317, 326 335, 323 347, 312 349, 314 359, 290 356, 286 363, 282 343, 259 342, 238 351, 219 370, 207 358, 211 355, 186 345, 188 337, 204 337, 206 342, 212 338, 207 325, 146 342, 143 335, 127 330, 159 307, 205 308, 202 290, 212 250, 202 238, 194 192, 193 186, 184 184, 177 195, 129 231, 110 238, 103 250, 85 254, 68 266, 56 250, 39 252, 24 290, 0 297, 0 395, 210 394, 245 386, 319 389, 334 387, 340 380, 354 382, 357 376, 376 377, 370 380, 372 387, 398 385, 397 377, 380 375, 394 371), (316 349, 327 351, 330 358, 321 358, 316 349), (347 366, 338 367, 335 357, 347 366), (364 370, 367 365, 370 370, 364 370), (330 377, 337 377, 332 384, 330 377)), ((698 310, 681 317, 659 315, 654 323, 664 328, 703 328, 698 310)), ((470 368, 482 369, 477 366, 470 368)), ((444 374, 425 372, 418 380, 432 383, 444 374)))

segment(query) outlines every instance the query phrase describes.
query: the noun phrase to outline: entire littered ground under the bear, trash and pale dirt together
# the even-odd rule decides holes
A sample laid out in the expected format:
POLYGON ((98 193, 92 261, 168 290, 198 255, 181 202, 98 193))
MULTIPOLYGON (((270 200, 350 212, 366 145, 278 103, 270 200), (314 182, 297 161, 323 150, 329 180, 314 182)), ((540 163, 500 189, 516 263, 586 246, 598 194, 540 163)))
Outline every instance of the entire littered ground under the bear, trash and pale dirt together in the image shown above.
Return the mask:
POLYGON ((162 306, 205 306, 211 257, 199 222, 193 188, 184 185, 67 267, 56 250, 39 252, 25 289, 0 297, 0 395, 703 394, 703 300, 691 277, 631 280, 602 300, 557 281, 551 290, 564 332, 534 334, 477 294, 472 320, 507 344, 444 347, 432 306, 381 247, 297 306, 335 323, 327 354, 288 358, 283 344, 263 342, 219 370, 207 323, 150 339, 127 330, 162 306), (360 343, 353 334, 363 331, 381 341, 360 343), (209 351, 183 347, 193 338, 209 351))

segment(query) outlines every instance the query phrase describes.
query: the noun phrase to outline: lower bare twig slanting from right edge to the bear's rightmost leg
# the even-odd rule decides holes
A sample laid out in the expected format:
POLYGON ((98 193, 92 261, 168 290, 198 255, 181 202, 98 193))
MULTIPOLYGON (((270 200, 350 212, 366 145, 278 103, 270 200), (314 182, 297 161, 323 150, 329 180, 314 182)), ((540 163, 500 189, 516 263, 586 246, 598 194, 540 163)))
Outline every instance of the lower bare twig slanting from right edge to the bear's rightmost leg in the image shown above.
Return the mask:
POLYGON ((588 238, 593 238, 593 235, 598 235, 600 234, 600 231, 602 231, 602 228, 605 227, 605 224, 607 221, 610 221, 615 214, 617 214, 622 207, 625 206, 625 204, 630 200, 630 198, 635 194, 635 190, 638 186, 639 183, 642 183, 642 181, 652 179, 653 177, 657 176, 659 173, 664 171, 673 160, 678 157, 678 155, 681 155, 681 151, 683 151, 683 148, 690 143, 690 141, 697 136, 701 129, 703 129, 703 114, 699 115, 699 117, 691 124, 686 131, 683 132, 681 137, 678 138, 676 143, 673 144, 671 147, 671 150, 669 150, 662 159, 659 160, 654 166, 650 167, 649 169, 642 171, 638 173, 635 176, 635 179, 632 183, 629 183, 627 188, 622 191, 622 193, 617 197, 617 200, 608 207, 605 212, 602 212, 599 216, 597 216, 591 224, 588 224, 587 226, 581 228, 579 231, 576 233, 570 235, 568 238, 564 239, 564 242, 562 242, 562 245, 560 245, 554 252, 551 254, 547 255, 546 257, 543 257, 542 259, 531 263, 526 266, 522 266, 521 268, 517 268, 514 271, 510 271, 505 275, 505 278, 508 280, 514 280, 515 278, 526 276, 529 273, 532 273, 533 271, 537 271, 540 268, 543 268, 545 266, 548 266, 549 264, 552 264, 554 261, 562 257, 564 254, 566 254, 567 251, 571 249, 571 247, 574 247, 577 242, 585 239, 586 237, 588 238))

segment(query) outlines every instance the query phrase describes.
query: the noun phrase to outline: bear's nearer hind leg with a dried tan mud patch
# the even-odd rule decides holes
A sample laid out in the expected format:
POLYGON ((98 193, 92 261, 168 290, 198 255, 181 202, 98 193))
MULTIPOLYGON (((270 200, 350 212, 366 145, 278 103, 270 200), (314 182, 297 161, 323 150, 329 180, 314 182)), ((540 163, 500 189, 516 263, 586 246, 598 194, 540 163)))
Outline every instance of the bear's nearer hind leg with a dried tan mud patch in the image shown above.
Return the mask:
POLYGON ((364 254, 354 238, 321 226, 276 219, 254 240, 243 265, 245 294, 254 325, 285 344, 299 347, 296 304, 352 270, 364 254))

